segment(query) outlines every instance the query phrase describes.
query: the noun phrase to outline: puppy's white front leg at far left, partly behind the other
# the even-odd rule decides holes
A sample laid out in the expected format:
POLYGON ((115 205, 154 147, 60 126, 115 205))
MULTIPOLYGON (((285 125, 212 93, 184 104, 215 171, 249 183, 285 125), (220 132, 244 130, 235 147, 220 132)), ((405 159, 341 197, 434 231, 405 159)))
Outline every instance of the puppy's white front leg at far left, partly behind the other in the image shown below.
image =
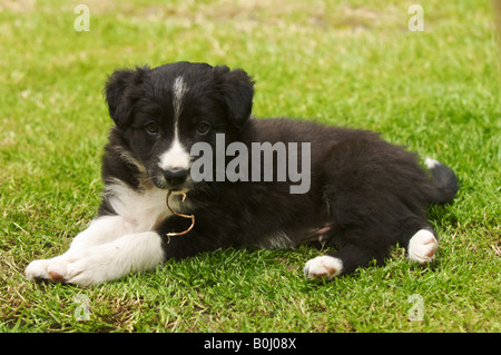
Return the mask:
POLYGON ((55 270, 49 273, 50 265, 63 264, 72 254, 115 240, 129 229, 130 225, 120 216, 98 217, 91 221, 86 230, 75 237, 70 248, 65 254, 51 259, 40 259, 30 263, 26 269, 26 276, 28 279, 60 280, 62 278, 60 274, 57 274, 55 270))

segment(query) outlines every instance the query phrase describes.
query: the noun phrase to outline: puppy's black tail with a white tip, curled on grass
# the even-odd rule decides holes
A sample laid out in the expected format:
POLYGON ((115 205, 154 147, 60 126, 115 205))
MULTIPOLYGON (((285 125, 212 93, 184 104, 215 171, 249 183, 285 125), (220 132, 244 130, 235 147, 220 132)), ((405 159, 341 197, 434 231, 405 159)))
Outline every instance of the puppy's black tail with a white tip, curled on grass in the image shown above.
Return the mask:
POLYGON ((430 194, 430 203, 448 204, 452 201, 459 190, 458 177, 454 171, 442 162, 431 158, 426 158, 424 164, 430 169, 435 187, 434 191, 430 194))

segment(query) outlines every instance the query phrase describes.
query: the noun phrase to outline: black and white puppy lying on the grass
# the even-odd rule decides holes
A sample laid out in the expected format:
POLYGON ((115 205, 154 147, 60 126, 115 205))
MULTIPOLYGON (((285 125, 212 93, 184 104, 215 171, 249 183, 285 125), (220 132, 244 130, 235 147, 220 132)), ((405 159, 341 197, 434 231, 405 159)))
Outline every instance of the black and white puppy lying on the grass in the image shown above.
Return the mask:
POLYGON ((413 262, 435 258, 425 207, 455 196, 450 168, 426 159, 426 171, 370 131, 255 119, 253 87, 225 66, 115 71, 98 216, 28 279, 86 286, 205 250, 304 241, 338 250, 308 260, 307 278, 383 262, 396 243, 413 262))

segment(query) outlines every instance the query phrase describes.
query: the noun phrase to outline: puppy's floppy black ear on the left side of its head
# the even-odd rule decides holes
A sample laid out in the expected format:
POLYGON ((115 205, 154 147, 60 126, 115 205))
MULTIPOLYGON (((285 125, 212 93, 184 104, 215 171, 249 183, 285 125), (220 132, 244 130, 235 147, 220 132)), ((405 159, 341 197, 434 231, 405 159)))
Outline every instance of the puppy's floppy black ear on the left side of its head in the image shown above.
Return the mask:
POLYGON ((140 97, 140 83, 145 68, 115 70, 109 76, 104 93, 108 102, 109 116, 118 128, 127 129, 132 119, 132 106, 140 97), (138 92, 139 91, 139 92, 138 92))

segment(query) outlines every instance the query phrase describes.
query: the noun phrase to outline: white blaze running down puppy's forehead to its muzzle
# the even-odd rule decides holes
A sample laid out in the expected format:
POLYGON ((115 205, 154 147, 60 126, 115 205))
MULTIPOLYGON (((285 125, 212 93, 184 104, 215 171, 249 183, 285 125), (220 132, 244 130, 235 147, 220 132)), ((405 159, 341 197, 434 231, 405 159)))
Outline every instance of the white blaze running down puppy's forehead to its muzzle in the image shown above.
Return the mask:
POLYGON ((177 77, 173 85, 173 107, 174 107, 174 139, 169 149, 161 156, 158 166, 164 170, 188 169, 191 162, 189 152, 183 147, 179 140, 179 116, 183 110, 183 98, 188 91, 183 77, 177 77))

